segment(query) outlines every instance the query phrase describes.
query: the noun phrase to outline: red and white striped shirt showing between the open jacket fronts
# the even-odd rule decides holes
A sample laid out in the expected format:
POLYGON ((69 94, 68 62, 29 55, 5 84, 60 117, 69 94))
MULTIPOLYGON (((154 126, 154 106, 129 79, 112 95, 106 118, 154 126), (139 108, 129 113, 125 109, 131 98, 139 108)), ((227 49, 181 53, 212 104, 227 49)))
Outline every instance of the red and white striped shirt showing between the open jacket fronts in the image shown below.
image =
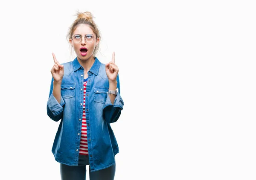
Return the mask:
POLYGON ((79 148, 79 154, 84 154, 84 155, 88 155, 87 124, 86 124, 86 117, 85 117, 86 86, 87 86, 87 78, 84 79, 84 108, 83 108, 81 140, 80 140, 80 148, 79 148))

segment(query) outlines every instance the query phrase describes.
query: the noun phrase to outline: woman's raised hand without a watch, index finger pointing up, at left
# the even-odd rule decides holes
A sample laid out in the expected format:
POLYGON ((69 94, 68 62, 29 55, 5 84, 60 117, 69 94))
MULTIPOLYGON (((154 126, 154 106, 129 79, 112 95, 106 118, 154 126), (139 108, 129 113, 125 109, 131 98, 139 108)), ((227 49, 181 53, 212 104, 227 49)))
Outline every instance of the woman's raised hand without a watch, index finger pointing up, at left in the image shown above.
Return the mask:
POLYGON ((61 83, 64 75, 64 66, 57 61, 55 54, 53 52, 52 57, 54 61, 54 65, 51 69, 52 78, 54 79, 55 83, 61 83))

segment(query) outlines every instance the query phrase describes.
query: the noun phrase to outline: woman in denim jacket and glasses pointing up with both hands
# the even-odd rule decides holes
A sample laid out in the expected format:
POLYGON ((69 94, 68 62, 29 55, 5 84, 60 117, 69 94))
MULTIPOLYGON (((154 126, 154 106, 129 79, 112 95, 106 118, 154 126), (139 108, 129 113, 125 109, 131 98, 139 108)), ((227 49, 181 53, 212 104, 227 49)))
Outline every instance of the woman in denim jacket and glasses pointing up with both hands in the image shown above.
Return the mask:
POLYGON ((115 54, 107 64, 96 58, 101 37, 90 12, 77 14, 67 38, 77 57, 60 64, 52 53, 47 114, 61 119, 52 153, 62 180, 85 180, 86 165, 90 180, 113 180, 119 148, 110 123, 124 105, 115 54))

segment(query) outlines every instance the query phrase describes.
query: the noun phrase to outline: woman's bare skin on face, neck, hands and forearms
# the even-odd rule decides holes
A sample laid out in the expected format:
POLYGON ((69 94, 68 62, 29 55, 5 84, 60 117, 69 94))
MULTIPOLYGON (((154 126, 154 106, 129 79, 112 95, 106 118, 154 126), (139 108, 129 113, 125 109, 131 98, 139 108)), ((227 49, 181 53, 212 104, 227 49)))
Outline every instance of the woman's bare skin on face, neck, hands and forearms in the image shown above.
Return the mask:
MULTIPOLYGON (((73 35, 87 35, 87 34, 93 34, 94 37, 96 35, 93 33, 93 30, 90 28, 89 25, 87 24, 80 24, 79 26, 76 27, 75 31, 72 34, 73 35)), ((81 66, 84 68, 84 78, 88 77, 88 71, 90 68, 93 66, 94 63, 94 58, 93 58, 93 52, 96 46, 99 44, 99 38, 94 39, 92 43, 87 43, 84 38, 82 38, 82 41, 79 44, 73 43, 72 39, 70 39, 70 44, 73 47, 74 51, 76 52, 77 55, 77 60, 81 64, 81 66), (87 48, 87 54, 85 56, 81 55, 80 53, 80 48, 81 47, 86 47, 87 48)), ((55 99, 60 103, 61 102, 61 82, 62 78, 64 76, 64 66, 61 65, 55 56, 54 53, 52 53, 54 65, 51 69, 52 77, 54 79, 53 81, 53 96, 55 99)), ((119 69, 115 64, 115 52, 112 54, 112 60, 105 65, 105 70, 106 74, 108 76, 108 81, 109 81, 109 89, 110 90, 116 90, 116 77, 118 75, 119 69)), ((109 94, 108 95, 111 99, 111 103, 113 104, 116 95, 115 94, 109 94)))

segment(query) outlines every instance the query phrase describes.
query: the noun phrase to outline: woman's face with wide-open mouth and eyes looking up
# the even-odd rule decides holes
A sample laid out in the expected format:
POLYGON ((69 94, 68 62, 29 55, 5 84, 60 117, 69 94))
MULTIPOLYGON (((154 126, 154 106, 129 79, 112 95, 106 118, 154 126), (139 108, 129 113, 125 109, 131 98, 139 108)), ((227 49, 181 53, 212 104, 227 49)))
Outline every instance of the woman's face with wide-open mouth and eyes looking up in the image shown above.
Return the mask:
POLYGON ((93 52, 95 47, 99 44, 99 38, 96 39, 96 35, 93 33, 93 30, 90 28, 90 26, 87 24, 79 24, 79 26, 76 27, 72 34, 72 39, 70 39, 70 44, 73 46, 73 49, 75 50, 76 56, 79 60, 86 61, 90 58, 93 58, 93 52), (90 40, 92 38, 90 35, 93 35, 93 41, 90 40), (84 36, 87 36, 86 39, 92 42, 86 42, 84 36), (81 39, 81 42, 76 44, 76 42, 79 42, 79 38, 81 39))

